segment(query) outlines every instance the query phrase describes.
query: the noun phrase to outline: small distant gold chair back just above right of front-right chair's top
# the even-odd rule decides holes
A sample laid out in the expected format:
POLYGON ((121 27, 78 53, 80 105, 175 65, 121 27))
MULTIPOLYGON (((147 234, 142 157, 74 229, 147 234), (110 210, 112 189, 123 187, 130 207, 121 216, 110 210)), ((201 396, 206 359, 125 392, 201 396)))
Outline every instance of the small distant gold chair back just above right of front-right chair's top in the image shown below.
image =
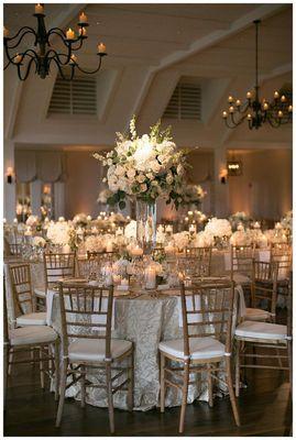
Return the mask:
POLYGON ((230 278, 243 286, 250 286, 252 279, 254 245, 231 245, 230 278))

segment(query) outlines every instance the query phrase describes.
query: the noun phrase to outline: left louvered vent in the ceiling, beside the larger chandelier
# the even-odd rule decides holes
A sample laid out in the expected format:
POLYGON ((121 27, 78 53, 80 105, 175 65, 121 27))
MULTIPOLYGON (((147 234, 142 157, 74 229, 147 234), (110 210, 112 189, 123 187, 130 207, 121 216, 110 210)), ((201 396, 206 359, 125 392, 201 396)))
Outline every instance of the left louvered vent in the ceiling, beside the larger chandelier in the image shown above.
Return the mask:
POLYGON ((97 79, 76 77, 72 81, 57 76, 48 114, 97 114, 97 79))

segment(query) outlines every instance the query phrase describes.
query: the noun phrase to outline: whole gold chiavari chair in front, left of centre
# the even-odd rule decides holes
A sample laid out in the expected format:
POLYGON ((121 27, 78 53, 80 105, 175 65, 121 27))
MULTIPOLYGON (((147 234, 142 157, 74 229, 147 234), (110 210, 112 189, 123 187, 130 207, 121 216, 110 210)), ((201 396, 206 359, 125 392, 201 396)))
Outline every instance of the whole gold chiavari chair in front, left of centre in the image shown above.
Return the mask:
POLYGON ((113 394, 127 391, 129 410, 133 409, 133 344, 130 341, 111 339, 113 287, 102 289, 61 282, 59 302, 63 365, 56 426, 61 425, 66 388, 79 381, 81 407, 85 406, 86 387, 106 391, 110 431, 113 433, 113 394), (118 362, 124 360, 129 361, 129 365, 118 366, 118 362), (117 362, 117 366, 113 362, 117 362), (89 367, 105 372, 103 383, 86 384, 89 367), (113 371, 116 374, 112 376, 113 371), (74 380, 67 384, 68 375, 74 380))

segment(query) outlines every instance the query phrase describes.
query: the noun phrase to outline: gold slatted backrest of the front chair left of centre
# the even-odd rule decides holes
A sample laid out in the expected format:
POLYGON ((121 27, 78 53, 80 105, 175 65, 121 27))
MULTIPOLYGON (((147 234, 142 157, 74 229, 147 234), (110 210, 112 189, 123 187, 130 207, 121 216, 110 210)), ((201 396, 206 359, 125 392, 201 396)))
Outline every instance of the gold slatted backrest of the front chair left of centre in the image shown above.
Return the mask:
POLYGON ((106 358, 110 358, 113 286, 99 288, 62 280, 58 287, 64 355, 68 355, 69 338, 83 338, 105 339, 106 358))

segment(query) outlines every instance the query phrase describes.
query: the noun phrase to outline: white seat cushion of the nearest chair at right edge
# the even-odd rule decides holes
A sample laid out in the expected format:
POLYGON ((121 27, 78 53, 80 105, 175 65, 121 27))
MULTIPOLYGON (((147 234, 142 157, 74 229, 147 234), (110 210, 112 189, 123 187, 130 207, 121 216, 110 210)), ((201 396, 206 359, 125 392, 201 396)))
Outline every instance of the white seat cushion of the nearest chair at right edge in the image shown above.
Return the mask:
POLYGON ((278 323, 244 321, 235 329, 235 336, 254 339, 284 340, 287 327, 278 323))

